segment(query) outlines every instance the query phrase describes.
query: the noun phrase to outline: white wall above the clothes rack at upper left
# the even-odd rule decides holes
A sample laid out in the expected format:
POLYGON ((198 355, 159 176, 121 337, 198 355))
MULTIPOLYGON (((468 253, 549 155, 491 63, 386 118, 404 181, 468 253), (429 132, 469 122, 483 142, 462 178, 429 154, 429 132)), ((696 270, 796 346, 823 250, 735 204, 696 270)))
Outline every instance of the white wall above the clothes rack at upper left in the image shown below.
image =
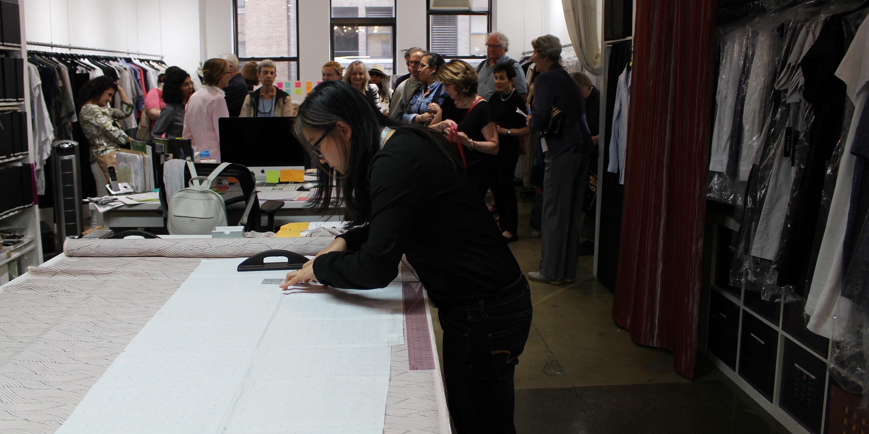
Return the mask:
MULTIPOLYGON (((196 76, 202 55, 200 1, 205 0, 26 0, 22 4, 30 41, 163 54, 169 65, 196 76)), ((231 47, 231 22, 229 29, 231 47)))

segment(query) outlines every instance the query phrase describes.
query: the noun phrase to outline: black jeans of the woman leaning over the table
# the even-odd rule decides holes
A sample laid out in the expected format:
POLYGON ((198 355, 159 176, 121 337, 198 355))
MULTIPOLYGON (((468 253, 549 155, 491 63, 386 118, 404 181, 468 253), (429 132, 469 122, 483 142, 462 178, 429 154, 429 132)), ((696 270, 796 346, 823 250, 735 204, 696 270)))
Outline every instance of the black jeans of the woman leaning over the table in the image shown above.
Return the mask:
POLYGON ((524 275, 497 296, 438 310, 447 403, 459 434, 516 432, 513 374, 531 317, 524 275))

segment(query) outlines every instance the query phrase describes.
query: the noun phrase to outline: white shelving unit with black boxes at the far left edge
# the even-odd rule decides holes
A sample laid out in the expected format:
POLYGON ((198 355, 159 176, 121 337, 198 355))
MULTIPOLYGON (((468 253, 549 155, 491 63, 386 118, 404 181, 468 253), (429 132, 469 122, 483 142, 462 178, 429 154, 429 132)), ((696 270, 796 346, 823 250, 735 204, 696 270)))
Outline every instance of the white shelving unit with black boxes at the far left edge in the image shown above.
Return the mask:
MULTIPOLYGON (((19 29, 21 30, 21 41, 24 42, 27 39, 24 34, 23 2, 20 2, 18 6, 18 25, 19 29)), ((2 32, 2 30, 0 30, 0 32, 2 32)), ((11 56, 26 59, 27 46, 26 44, 22 44, 21 46, 9 46, 0 44, 0 56, 11 56)), ((26 62, 24 63, 24 65, 23 101, 0 102, 0 109, 17 109, 23 112, 29 111, 30 80, 29 75, 27 74, 26 62)), ((0 160, 0 168, 12 166, 32 166, 34 162, 35 152, 33 148, 33 127, 31 125, 30 116, 26 115, 24 117, 26 118, 25 130, 27 133, 28 153, 26 155, 13 155, 9 158, 0 160)), ((34 197, 33 199, 34 202, 36 202, 36 197, 34 197)), ((27 235, 32 236, 32 240, 24 243, 23 246, 17 247, 15 250, 12 250, 10 252, 0 252, 0 284, 4 283, 7 279, 14 279, 17 277, 17 275, 26 272, 29 266, 39 265, 40 263, 42 263, 43 258, 43 246, 39 233, 39 213, 36 203, 30 205, 29 207, 23 207, 21 209, 14 210, 6 214, 0 214, 0 229, 3 228, 23 228, 27 235)))

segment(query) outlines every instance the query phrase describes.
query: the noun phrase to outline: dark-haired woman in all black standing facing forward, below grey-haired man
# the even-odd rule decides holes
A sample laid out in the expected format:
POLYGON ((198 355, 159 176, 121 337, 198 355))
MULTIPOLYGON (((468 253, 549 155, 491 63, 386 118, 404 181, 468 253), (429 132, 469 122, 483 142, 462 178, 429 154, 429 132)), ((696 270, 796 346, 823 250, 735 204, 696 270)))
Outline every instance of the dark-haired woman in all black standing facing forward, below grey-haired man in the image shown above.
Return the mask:
POLYGON ((492 195, 498 204, 498 224, 507 242, 519 240, 519 206, 513 179, 519 161, 519 138, 527 137, 530 129, 525 119, 525 98, 516 92, 513 81, 516 69, 509 63, 498 63, 492 69, 496 92, 489 98, 498 130, 498 155, 492 179, 492 195))

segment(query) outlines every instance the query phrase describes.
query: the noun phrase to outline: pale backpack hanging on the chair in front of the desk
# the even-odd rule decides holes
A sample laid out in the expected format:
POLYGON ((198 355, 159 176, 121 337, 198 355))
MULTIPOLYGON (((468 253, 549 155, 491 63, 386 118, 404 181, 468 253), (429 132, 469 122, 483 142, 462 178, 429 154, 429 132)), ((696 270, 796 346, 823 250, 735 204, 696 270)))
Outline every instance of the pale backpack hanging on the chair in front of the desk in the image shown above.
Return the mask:
POLYGON ((167 227, 173 235, 209 234, 217 226, 227 226, 223 197, 211 191, 211 183, 229 163, 221 163, 208 177, 198 176, 192 162, 189 187, 178 190, 169 199, 167 227))

